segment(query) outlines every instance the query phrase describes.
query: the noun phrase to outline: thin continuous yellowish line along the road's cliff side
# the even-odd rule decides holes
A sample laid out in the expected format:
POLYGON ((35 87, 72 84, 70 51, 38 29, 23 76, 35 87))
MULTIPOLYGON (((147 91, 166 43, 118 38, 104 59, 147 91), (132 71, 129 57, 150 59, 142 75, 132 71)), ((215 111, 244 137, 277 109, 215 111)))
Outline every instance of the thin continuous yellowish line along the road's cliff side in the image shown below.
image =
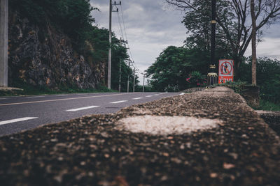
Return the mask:
POLYGON ((131 93, 118 93, 118 94, 110 94, 110 95, 93 95, 93 96, 78 97, 78 98, 64 98, 64 99, 56 99, 56 100, 40 100, 40 101, 33 101, 33 102, 14 102, 14 103, 0 104, 0 106, 15 105, 15 104, 31 104, 31 103, 38 103, 38 102, 57 102, 57 101, 64 101, 64 100, 80 100, 80 99, 87 99, 87 98, 100 98, 100 97, 109 97, 109 96, 126 95, 126 94, 131 94, 131 93))

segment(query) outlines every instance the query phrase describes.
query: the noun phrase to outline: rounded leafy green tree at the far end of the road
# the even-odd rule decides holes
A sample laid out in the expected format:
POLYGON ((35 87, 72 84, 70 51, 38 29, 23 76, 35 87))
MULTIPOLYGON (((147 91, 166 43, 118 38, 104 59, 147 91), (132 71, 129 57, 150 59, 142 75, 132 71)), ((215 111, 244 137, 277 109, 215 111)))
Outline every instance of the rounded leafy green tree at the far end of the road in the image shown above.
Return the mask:
POLYGON ((148 68, 147 75, 156 91, 180 91, 189 87, 186 79, 190 72, 199 70, 207 74, 207 63, 207 54, 200 49, 169 46, 148 68))

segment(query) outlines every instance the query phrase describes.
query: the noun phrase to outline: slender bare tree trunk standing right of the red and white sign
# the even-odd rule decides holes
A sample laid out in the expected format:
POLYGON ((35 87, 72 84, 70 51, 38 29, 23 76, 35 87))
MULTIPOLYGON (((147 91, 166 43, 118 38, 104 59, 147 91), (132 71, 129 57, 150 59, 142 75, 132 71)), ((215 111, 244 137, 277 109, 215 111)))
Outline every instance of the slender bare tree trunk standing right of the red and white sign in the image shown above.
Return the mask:
POLYGON ((252 84, 257 85, 257 52, 255 49, 257 26, 255 23, 255 0, 251 0, 251 18, 252 18, 252 84))

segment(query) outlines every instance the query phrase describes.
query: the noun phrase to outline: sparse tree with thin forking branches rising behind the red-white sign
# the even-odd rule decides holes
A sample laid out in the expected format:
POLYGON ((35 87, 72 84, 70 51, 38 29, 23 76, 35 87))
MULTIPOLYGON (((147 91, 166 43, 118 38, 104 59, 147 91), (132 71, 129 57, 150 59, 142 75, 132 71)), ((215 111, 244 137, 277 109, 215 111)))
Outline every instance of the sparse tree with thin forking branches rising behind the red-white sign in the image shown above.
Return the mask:
MULTIPOLYGON (((196 17, 203 17, 203 3, 209 3, 211 0, 166 0, 167 3, 186 11, 196 14, 196 17)), ((280 1, 279 0, 255 0, 255 31, 261 33, 263 26, 276 22, 280 17, 280 1)), ((248 0, 218 0, 217 1, 217 17, 218 25, 221 26, 225 34, 230 49, 235 59, 235 72, 239 72, 239 65, 242 61, 244 53, 251 42, 252 38, 252 22, 249 21, 249 5, 248 0)), ((209 20, 211 16, 209 15, 209 20)), ((190 17, 191 18, 191 17, 190 17)), ((208 20, 208 22, 209 22, 208 20)), ((202 22, 205 20, 201 20, 202 22)), ((195 22, 195 21, 194 21, 195 22)), ((187 28, 188 29, 188 28, 187 28)), ((200 28, 202 29, 202 28, 200 28)))

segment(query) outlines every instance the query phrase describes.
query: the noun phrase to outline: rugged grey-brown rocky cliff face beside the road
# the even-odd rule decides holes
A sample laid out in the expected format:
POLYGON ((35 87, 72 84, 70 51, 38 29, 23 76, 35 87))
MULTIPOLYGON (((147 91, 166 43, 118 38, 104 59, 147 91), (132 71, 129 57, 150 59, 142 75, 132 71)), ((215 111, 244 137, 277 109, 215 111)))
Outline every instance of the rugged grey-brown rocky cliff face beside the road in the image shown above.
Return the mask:
MULTIPOLYGON (((90 60, 90 59, 89 59, 90 60)), ((34 86, 97 88, 105 63, 87 61, 71 40, 50 24, 35 26, 17 13, 9 15, 9 84, 21 79, 34 86)))

